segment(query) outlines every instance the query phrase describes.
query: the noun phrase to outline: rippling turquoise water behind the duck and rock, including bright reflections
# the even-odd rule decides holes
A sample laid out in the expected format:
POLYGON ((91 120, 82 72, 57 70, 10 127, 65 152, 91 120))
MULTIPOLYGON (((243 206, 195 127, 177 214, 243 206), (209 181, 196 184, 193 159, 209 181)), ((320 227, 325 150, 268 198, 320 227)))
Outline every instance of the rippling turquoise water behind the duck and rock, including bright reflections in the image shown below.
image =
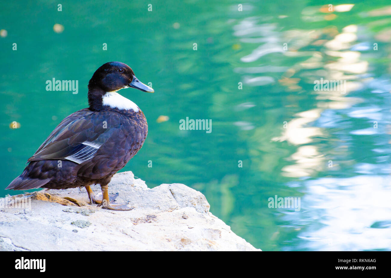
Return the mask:
POLYGON ((0 4, 0 188, 87 106, 95 69, 121 61, 155 90, 120 91, 149 124, 122 171, 149 187, 201 191, 263 250, 389 250, 389 2, 338 1, 332 12, 301 0, 249 1, 242 11, 234 1, 149 3, 0 4), (78 80, 79 93, 46 91, 52 78, 78 80), (346 90, 315 91, 321 78, 346 80, 346 90), (212 132, 180 130, 186 117, 211 119, 212 132), (300 197, 300 211, 269 208, 275 195, 300 197))

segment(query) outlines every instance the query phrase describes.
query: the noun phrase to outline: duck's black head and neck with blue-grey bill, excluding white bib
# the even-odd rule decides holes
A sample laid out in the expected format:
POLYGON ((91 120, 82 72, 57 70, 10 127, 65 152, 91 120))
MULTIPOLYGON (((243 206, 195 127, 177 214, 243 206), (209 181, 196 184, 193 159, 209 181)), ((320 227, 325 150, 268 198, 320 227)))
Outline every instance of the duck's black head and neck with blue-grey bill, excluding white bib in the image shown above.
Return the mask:
POLYGON ((133 70, 121 62, 108 62, 100 66, 88 82, 88 103, 91 110, 102 108, 102 99, 109 92, 124 88, 136 88, 143 92, 153 93, 154 90, 140 82, 133 70))

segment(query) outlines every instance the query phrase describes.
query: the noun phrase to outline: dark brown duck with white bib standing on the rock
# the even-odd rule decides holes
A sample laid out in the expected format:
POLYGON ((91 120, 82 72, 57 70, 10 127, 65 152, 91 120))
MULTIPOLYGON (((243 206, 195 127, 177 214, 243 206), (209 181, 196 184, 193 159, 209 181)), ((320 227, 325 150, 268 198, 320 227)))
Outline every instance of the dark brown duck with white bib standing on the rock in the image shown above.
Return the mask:
POLYGON ((91 204, 131 210, 128 202, 113 204, 118 194, 108 194, 111 178, 136 155, 148 134, 142 110, 117 93, 129 87, 154 93, 127 64, 100 66, 88 82, 89 107, 63 119, 6 189, 85 187, 91 204), (102 200, 92 191, 94 184, 100 185, 102 200))

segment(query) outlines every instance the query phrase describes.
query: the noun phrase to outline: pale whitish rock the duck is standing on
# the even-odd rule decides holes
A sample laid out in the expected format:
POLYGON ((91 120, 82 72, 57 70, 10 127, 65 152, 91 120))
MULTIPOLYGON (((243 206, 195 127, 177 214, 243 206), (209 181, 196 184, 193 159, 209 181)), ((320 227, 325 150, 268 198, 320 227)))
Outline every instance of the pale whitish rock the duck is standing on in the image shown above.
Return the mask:
MULTIPOLYGON (((95 194, 99 185, 92 187, 95 194)), ((130 211, 88 204, 80 190, 48 190, 3 198, 0 251, 259 251, 209 212, 205 196, 184 184, 150 189, 132 172, 118 173, 109 193, 130 211), (4 207, 31 198, 31 209, 4 207)))

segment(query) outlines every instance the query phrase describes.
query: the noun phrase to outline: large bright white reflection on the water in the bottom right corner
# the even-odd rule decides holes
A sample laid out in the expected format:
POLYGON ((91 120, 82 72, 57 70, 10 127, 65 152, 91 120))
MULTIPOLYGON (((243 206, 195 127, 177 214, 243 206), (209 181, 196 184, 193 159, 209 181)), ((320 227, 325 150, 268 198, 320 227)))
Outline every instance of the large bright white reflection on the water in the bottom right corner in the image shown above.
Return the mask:
POLYGON ((300 244, 302 248, 319 251, 389 249, 390 182, 389 176, 370 174, 307 182, 307 191, 301 198, 302 219, 294 219, 292 214, 294 221, 312 226, 298 236, 305 240, 300 244), (316 225, 312 225, 314 223, 316 225), (314 228, 317 226, 319 228, 314 228))

